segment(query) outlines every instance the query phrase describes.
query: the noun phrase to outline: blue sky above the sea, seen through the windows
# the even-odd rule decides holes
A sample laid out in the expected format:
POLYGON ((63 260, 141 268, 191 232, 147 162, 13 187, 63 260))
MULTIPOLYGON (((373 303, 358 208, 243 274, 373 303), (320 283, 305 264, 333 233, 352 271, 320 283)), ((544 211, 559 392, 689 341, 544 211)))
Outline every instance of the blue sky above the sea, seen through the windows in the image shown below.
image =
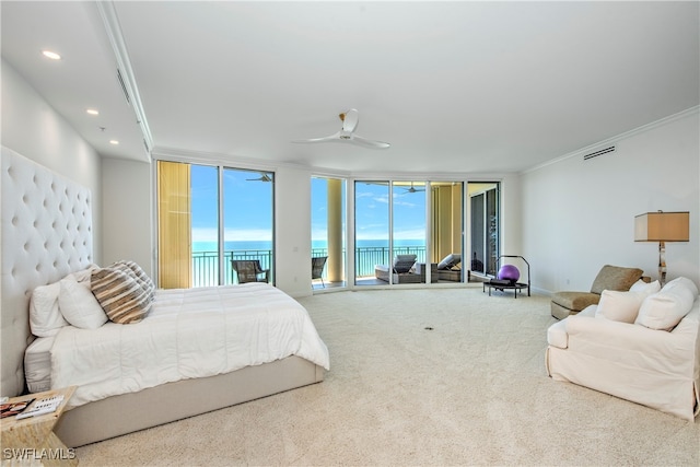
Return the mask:
MULTIPOLYGON (((275 175, 267 173, 270 177, 275 175)), ((262 173, 226 168, 223 175, 226 241, 270 241, 272 238, 272 188, 257 180, 262 173)), ((312 240, 326 240, 328 212, 325 178, 312 178, 312 240)), ((346 187, 347 188, 347 187, 346 187)), ((425 192, 394 188, 395 240, 425 237, 425 192)), ((422 188, 418 184, 416 188, 422 188)), ((343 195, 345 196, 345 195, 343 195)), ((217 167, 191 166, 192 242, 217 242, 217 167)), ((388 185, 355 183, 355 227, 358 240, 388 238, 388 185)))

